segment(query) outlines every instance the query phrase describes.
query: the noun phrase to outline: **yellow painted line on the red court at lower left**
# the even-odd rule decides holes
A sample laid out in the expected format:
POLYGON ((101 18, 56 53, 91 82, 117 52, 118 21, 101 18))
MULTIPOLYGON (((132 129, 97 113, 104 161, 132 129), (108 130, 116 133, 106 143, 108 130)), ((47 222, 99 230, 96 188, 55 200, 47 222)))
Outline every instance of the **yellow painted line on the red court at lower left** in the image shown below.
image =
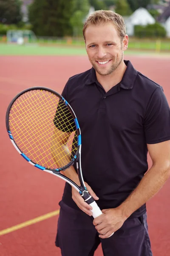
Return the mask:
POLYGON ((54 212, 49 212, 49 213, 47 213, 45 215, 41 215, 41 216, 39 216, 37 218, 34 218, 34 219, 31 219, 29 221, 22 222, 22 223, 20 223, 20 224, 18 224, 16 226, 8 227, 8 228, 6 228, 4 230, 0 230, 0 236, 8 234, 8 233, 11 233, 11 232, 13 232, 15 230, 19 230, 20 228, 27 227, 29 225, 35 224, 35 223, 37 223, 39 221, 44 221, 44 220, 46 220, 48 218, 51 218, 51 217, 53 217, 55 215, 58 215, 58 214, 59 214, 59 210, 56 210, 54 212))

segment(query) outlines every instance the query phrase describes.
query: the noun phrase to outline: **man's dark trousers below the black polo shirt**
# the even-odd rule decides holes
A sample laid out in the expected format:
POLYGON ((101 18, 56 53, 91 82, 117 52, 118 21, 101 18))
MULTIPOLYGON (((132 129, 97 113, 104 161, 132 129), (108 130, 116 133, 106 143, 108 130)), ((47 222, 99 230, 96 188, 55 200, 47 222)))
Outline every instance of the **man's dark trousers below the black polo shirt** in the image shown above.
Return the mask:
POLYGON ((56 246, 62 256, 93 256, 100 243, 104 256, 152 256, 146 213, 127 219, 113 236, 100 239, 90 216, 62 201, 59 205, 56 246))

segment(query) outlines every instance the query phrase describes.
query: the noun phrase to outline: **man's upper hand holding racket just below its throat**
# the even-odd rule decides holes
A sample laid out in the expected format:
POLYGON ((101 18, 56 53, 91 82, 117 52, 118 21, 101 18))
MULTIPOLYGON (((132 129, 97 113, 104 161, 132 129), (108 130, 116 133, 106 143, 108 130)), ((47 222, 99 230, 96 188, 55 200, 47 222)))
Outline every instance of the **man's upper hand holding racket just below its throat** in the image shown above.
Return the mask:
MULTIPOLYGON (((99 200, 99 198, 96 196, 94 191, 91 189, 91 187, 85 182, 85 186, 89 192, 89 194, 94 198, 94 200, 99 200)), ((89 204, 87 204, 82 196, 79 194, 79 192, 72 187, 72 199, 77 204, 79 209, 81 209, 83 212, 88 214, 89 216, 92 216, 91 210, 93 209, 89 204)))

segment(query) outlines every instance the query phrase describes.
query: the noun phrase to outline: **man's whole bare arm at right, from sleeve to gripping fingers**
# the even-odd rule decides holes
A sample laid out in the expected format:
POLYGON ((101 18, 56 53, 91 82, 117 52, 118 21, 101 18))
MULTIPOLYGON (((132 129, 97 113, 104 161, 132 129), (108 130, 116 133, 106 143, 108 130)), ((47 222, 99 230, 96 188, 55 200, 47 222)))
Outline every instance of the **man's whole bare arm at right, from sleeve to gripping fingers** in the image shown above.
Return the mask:
POLYGON ((100 235, 101 238, 108 238, 122 227, 125 220, 152 198, 170 177, 170 140, 147 144, 147 148, 153 165, 139 185, 119 207, 104 209, 102 210, 104 214, 94 219, 94 225, 98 232, 105 234, 100 235))

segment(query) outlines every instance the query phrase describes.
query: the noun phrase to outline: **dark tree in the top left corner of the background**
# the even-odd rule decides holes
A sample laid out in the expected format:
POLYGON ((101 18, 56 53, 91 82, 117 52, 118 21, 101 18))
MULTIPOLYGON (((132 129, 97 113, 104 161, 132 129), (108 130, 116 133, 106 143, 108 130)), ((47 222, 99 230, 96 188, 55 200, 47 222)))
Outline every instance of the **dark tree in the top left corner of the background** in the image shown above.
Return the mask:
POLYGON ((22 20, 20 0, 0 0, 0 22, 17 24, 22 20))

